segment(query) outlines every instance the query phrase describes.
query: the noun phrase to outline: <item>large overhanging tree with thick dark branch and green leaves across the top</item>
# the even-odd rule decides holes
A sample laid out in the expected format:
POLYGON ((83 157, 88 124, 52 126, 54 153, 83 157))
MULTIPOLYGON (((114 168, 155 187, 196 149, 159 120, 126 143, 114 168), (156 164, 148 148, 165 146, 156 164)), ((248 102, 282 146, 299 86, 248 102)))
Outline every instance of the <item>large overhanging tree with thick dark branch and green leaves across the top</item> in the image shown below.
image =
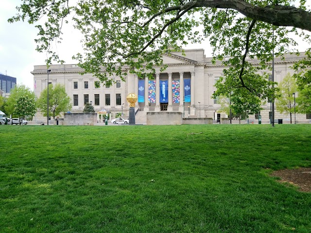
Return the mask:
POLYGON ((51 64, 52 60, 63 62, 50 46, 61 41, 62 25, 71 17, 84 35, 85 54, 74 58, 84 73, 108 85, 114 82, 109 75, 123 79, 123 66, 138 77, 152 78, 154 66, 165 69, 162 54, 208 38, 214 62, 223 61, 235 73, 225 76, 223 91, 216 94, 243 89, 236 96, 247 93, 241 100, 251 97, 252 103, 274 97, 274 83, 266 75, 256 75, 269 67, 271 51, 281 56, 297 45, 290 32, 308 39, 297 28, 311 32, 306 0, 298 4, 295 0, 83 0, 73 4, 71 0, 24 0, 9 22, 37 23, 46 17, 45 24, 35 26, 39 30, 36 42, 38 51, 51 54, 47 59, 51 64), (249 63, 248 57, 258 59, 259 66, 249 63))

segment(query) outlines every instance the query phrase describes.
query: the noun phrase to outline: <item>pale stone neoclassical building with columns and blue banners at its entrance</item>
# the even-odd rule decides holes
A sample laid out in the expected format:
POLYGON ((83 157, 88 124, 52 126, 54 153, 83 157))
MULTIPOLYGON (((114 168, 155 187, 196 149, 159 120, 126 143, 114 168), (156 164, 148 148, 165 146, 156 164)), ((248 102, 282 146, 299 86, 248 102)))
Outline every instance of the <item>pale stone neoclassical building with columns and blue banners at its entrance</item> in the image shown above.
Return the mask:
MULTIPOLYGON (((129 93, 138 95, 136 110, 140 110, 140 115, 146 112, 178 111, 184 117, 217 117, 217 110, 220 108, 218 100, 211 96, 216 91, 214 84, 222 76, 225 68, 221 62, 212 63, 211 57, 204 55, 203 49, 184 50, 173 52, 170 55, 163 55, 163 63, 167 65, 165 71, 160 71, 155 67, 154 79, 138 79, 138 76, 131 74, 128 67, 122 67, 127 72, 124 77, 125 82, 120 77, 111 77, 115 83, 112 86, 103 85, 97 88, 95 83, 99 82, 92 74, 80 75, 82 71, 77 65, 52 65, 49 69, 49 80, 47 67, 35 66, 32 74, 35 82, 35 95, 45 89, 48 83, 61 83, 65 85, 67 94, 72 100, 71 112, 82 112, 86 102, 91 102, 95 111, 106 110, 114 118, 116 113, 128 116, 129 104, 126 96, 129 93)), ((285 54, 285 59, 275 59, 275 81, 280 82, 287 73, 294 74, 291 68, 294 62, 301 59, 295 54, 285 54)), ((254 64, 259 64, 258 60, 251 60, 254 64)), ((271 70, 261 72, 272 73, 271 70)), ((271 103, 262 105, 263 110, 259 113, 263 123, 269 123, 271 103)), ((309 123, 306 114, 296 114, 298 123, 309 123)), ((223 116, 222 116, 223 117, 223 116)), ((249 116, 249 119, 256 121, 258 116, 249 116)), ((275 112, 275 119, 282 118, 283 123, 289 121, 287 115, 275 112)), ((39 112, 35 116, 39 122, 46 121, 39 112)), ((294 120, 294 119, 293 119, 294 120)), ((143 119, 142 119, 143 121, 143 119)))

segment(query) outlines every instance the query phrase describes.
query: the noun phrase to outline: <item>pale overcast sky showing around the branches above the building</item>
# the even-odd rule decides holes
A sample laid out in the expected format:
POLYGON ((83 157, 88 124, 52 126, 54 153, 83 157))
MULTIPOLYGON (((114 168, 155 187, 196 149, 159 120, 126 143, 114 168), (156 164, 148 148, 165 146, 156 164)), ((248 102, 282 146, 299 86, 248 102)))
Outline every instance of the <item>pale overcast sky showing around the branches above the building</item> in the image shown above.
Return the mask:
MULTIPOLYGON (((17 83, 23 83, 34 89, 34 78, 30 73, 35 65, 44 65, 47 58, 45 53, 35 51, 37 29, 27 22, 7 22, 9 17, 16 15, 16 6, 21 0, 1 0, 0 5, 0 73, 17 78, 17 83)), ((72 25, 66 25, 63 32, 63 42, 57 45, 57 52, 66 64, 75 64, 72 55, 82 52, 79 34, 72 25)), ((300 43, 301 51, 309 48, 300 43)), ((54 47, 55 48, 55 47, 54 47)), ((189 45, 185 49, 205 49, 206 56, 211 56, 208 43, 189 45)))

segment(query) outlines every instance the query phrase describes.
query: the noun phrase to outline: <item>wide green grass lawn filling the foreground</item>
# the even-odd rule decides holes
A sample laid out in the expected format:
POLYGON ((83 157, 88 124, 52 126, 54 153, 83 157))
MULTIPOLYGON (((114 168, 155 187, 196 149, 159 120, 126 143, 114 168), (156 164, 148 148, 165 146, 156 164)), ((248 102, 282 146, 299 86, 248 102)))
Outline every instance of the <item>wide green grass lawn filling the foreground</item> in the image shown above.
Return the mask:
POLYGON ((0 233, 311 232, 311 125, 2 126, 0 233), (198 134, 190 134, 198 133, 198 134))

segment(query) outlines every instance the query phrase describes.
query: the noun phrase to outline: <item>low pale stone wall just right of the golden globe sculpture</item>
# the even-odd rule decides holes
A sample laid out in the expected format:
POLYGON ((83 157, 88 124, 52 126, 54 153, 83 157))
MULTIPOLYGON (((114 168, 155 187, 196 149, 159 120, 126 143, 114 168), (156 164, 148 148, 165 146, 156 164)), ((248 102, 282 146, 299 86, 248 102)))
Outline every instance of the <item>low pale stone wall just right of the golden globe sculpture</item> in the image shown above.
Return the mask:
POLYGON ((181 125, 183 114, 181 112, 148 112, 147 125, 181 125))

